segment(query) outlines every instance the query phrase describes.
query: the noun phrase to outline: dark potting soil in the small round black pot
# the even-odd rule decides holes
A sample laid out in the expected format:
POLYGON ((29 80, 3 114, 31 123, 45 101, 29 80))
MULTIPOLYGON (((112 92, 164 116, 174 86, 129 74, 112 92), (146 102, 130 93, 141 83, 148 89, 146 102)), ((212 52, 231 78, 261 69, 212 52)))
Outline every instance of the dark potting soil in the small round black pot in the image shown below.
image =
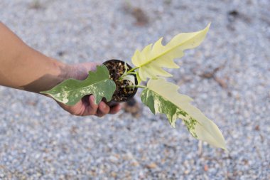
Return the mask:
MULTIPOLYGON (((112 101, 115 102, 126 102, 132 97, 137 92, 137 88, 129 88, 126 87, 128 85, 132 85, 129 80, 119 80, 121 75, 124 74, 125 71, 125 65, 124 61, 121 60, 107 60, 106 62, 103 63, 106 65, 106 67, 109 70, 109 75, 112 80, 114 80, 114 83, 117 85, 117 89, 114 92, 114 95, 112 95, 112 101)), ((131 66, 126 64, 128 70, 131 70, 131 66)), ((136 79, 136 75, 134 75, 136 79)), ((136 85, 137 85, 137 80, 135 80, 136 85)))

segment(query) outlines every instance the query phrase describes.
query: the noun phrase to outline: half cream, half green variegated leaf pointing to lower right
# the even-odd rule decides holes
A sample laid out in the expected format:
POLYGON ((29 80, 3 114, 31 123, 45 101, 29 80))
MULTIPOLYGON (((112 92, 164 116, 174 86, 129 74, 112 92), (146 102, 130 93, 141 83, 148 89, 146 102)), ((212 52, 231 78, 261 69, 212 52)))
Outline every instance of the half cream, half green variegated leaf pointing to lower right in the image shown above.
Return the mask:
POLYGON ((220 129, 196 107, 190 105, 192 99, 178 93, 178 86, 162 78, 149 80, 147 88, 141 93, 141 101, 153 114, 166 114, 168 121, 175 127, 177 118, 183 120, 190 134, 196 139, 208 142, 214 147, 226 149, 225 139, 220 129))

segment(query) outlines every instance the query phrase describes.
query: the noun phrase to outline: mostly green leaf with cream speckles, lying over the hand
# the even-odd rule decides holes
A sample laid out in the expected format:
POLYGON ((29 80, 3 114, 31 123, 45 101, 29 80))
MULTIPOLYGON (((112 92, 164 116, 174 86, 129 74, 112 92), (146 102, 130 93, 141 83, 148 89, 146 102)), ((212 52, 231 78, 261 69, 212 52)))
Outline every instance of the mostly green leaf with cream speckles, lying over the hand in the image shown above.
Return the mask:
POLYGON ((109 70, 105 65, 98 65, 97 70, 90 71, 85 80, 68 79, 51 90, 41 93, 48 94, 65 105, 75 105, 82 97, 90 94, 95 96, 96 104, 102 100, 102 97, 109 101, 115 90, 114 81, 109 79, 109 70))

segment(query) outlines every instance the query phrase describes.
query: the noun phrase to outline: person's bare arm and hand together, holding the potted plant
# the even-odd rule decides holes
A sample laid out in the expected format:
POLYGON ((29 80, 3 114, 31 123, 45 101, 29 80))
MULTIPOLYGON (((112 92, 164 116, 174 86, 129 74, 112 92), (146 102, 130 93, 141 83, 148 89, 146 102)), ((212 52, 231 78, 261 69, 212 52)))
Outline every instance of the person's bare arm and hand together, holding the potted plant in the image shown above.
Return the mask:
MULTIPOLYGON (((39 93, 50 90, 68 78, 84 80, 88 71, 95 70, 97 65, 97 63, 68 65, 49 58, 23 43, 1 21, 0 42, 0 85, 9 88, 39 93)), ((100 102, 99 105, 95 105, 94 98, 93 95, 87 95, 74 106, 60 102, 58 105, 70 114, 78 116, 102 117, 115 114, 121 109, 119 104, 109 107, 100 102)))

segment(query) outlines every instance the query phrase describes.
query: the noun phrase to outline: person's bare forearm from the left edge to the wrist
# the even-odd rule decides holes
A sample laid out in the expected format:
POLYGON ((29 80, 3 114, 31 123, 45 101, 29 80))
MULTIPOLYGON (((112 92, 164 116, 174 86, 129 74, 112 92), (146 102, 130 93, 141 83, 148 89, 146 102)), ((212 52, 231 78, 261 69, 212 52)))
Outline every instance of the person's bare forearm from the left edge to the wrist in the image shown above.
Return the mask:
POLYGON ((0 22, 0 85, 40 92, 70 76, 69 65, 30 48, 0 22))

